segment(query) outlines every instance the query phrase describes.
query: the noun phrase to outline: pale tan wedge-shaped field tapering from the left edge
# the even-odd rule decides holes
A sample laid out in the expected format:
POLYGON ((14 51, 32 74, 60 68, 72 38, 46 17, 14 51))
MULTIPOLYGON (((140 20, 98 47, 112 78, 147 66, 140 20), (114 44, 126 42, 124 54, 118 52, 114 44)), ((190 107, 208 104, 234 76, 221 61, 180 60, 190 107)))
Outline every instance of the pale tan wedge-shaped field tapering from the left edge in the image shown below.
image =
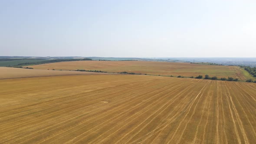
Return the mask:
POLYGON ((0 67, 0 79, 26 78, 26 77, 38 77, 38 76, 57 76, 57 75, 92 75, 92 74, 95 75, 95 74, 102 74, 102 73, 0 67))

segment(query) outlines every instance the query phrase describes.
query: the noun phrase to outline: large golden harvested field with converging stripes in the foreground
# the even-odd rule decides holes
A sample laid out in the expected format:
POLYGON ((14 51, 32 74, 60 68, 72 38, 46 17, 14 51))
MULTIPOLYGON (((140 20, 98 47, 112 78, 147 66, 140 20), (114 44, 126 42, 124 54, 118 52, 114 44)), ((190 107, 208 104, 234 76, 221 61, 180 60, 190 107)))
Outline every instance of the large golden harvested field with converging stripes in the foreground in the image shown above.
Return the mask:
POLYGON ((0 80, 0 143, 256 143, 256 84, 147 75, 0 80))

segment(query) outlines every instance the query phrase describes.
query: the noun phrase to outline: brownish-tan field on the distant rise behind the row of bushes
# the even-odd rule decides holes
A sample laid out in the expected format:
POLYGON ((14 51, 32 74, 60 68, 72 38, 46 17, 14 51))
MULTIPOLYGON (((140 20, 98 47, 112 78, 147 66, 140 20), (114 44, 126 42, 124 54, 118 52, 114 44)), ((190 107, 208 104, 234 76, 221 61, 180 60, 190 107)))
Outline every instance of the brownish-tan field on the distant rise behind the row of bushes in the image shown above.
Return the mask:
POLYGON ((57 62, 44 65, 30 66, 34 69, 63 69, 63 70, 102 70, 107 72, 135 72, 150 75, 198 76, 210 75, 233 77, 240 80, 250 79, 243 75, 243 70, 237 66, 199 65, 181 62, 145 62, 145 61, 75 61, 57 62))

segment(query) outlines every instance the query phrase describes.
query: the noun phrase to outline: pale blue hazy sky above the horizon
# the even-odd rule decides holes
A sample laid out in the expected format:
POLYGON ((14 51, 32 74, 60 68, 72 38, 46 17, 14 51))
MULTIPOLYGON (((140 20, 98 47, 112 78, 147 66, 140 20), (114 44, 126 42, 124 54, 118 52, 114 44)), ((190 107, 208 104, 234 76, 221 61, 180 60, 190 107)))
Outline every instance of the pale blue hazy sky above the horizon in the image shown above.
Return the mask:
POLYGON ((0 56, 256 57, 256 0, 0 0, 0 56))

